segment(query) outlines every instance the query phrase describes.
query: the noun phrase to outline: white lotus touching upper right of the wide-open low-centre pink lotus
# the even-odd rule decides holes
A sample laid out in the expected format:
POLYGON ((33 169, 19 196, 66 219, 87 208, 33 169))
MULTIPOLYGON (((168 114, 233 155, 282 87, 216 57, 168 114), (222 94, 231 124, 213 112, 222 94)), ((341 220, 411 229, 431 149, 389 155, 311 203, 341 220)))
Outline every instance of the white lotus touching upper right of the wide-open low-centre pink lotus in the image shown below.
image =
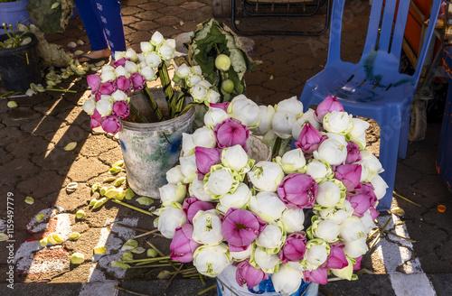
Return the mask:
POLYGON ((272 222, 282 216, 286 205, 275 192, 262 191, 250 198, 250 209, 266 222, 272 222))

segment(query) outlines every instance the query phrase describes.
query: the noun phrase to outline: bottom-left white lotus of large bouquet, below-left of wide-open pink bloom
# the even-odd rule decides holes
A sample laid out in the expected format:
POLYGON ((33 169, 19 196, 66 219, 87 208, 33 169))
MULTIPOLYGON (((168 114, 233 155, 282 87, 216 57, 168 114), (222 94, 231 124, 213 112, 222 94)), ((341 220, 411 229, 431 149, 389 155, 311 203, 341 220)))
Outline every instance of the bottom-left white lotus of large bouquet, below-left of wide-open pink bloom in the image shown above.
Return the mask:
POLYGON ((228 247, 225 245, 202 245, 193 254, 193 265, 199 273, 215 277, 231 262, 228 247))

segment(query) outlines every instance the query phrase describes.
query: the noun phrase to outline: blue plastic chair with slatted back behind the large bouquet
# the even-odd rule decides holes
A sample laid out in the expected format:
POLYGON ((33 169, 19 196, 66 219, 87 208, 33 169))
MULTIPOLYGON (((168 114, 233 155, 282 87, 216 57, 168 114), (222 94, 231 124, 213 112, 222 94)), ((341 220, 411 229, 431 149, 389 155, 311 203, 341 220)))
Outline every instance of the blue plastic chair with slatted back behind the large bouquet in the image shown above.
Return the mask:
POLYGON ((341 60, 341 32, 345 0, 334 0, 328 60, 325 69, 306 81, 300 97, 305 106, 318 105, 325 97, 337 96, 353 116, 375 120, 381 128, 381 177, 388 190, 379 210, 391 208, 397 156, 405 158, 410 126, 410 105, 420 71, 435 29, 441 0, 433 0, 428 30, 419 54, 416 72, 400 74, 400 51, 410 0, 373 0, 363 56, 357 64, 341 60), (398 7, 397 4, 399 3, 398 7))

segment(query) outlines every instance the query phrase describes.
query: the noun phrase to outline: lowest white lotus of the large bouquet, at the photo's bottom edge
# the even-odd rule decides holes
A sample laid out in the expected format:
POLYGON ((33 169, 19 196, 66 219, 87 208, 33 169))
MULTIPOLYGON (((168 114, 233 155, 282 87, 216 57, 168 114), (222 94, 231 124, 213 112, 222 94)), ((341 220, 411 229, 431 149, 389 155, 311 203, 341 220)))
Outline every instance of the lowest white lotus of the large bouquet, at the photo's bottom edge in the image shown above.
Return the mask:
POLYGON ((298 291, 303 273, 293 269, 288 264, 280 264, 278 273, 271 274, 271 282, 275 291, 284 295, 291 295, 298 291))

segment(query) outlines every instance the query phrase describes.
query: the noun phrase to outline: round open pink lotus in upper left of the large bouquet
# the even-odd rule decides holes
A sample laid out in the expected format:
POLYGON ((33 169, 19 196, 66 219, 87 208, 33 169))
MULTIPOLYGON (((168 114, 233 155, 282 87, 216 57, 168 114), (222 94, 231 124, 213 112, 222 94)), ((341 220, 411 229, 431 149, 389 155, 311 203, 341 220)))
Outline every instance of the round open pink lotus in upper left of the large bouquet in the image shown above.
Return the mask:
POLYGON ((225 119, 221 124, 215 126, 213 133, 219 148, 239 144, 245 151, 248 151, 247 140, 250 136, 250 130, 246 125, 242 125, 239 120, 235 118, 225 119))

